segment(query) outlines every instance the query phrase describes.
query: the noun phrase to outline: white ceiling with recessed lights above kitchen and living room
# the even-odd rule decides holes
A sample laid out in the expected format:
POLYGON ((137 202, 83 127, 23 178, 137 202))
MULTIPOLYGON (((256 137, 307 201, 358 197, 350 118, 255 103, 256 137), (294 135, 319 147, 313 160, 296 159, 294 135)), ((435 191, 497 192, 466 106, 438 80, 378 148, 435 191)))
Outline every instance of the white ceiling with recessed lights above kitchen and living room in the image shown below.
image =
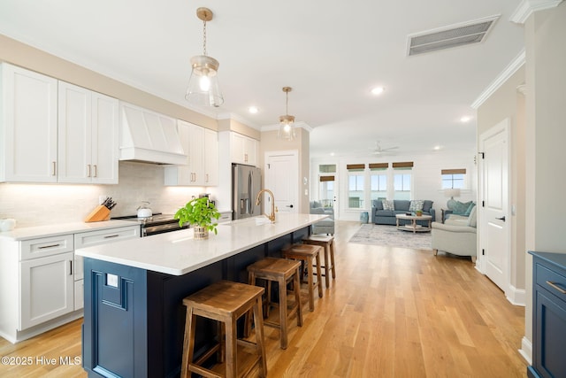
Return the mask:
POLYGON ((275 125, 289 114, 312 127, 311 157, 371 150, 473 150, 470 104, 524 47, 509 21, 519 0, 2 0, 0 34, 187 106, 189 59, 220 62, 225 103, 203 112, 275 125), (407 56, 407 38, 501 14, 486 42, 407 56), (381 96, 370 89, 384 86, 381 96), (249 114, 250 105, 259 112, 249 114))

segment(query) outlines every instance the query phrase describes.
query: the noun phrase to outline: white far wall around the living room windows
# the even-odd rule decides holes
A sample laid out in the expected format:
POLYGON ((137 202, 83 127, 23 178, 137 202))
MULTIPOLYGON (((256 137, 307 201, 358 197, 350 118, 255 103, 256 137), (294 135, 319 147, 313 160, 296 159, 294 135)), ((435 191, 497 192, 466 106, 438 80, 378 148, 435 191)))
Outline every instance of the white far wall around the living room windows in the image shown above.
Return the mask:
MULTIPOLYGON (((475 144, 471 141, 470 144, 475 144)), ((349 210, 348 207, 348 172, 347 164, 361 163, 390 163, 412 161, 412 198, 430 199, 434 203, 432 207, 436 210, 437 220, 440 220, 440 209, 446 209, 447 197, 441 189, 441 169, 465 168, 467 189, 462 190, 462 196, 455 198, 459 201, 477 200, 477 166, 474 164, 475 151, 448 151, 440 150, 425 154, 412 155, 392 155, 384 158, 356 157, 356 158, 313 158, 310 162, 310 200, 318 198, 318 165, 336 164, 337 173, 335 174, 340 189, 340 209, 335 211, 339 220, 359 220, 360 212, 371 212, 371 204, 363 202, 364 208, 359 210, 349 210)))

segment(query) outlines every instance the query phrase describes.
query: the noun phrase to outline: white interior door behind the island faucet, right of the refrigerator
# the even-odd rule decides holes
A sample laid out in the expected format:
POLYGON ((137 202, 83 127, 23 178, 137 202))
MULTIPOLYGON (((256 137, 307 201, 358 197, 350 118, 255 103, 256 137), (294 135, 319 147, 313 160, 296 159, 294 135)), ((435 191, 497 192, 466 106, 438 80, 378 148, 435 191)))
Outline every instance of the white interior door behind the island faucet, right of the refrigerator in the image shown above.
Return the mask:
MULTIPOLYGON (((299 156, 296 150, 265 153, 265 189, 275 197, 279 212, 298 212, 299 156)), ((264 196, 264 209, 271 206, 271 198, 264 196)))

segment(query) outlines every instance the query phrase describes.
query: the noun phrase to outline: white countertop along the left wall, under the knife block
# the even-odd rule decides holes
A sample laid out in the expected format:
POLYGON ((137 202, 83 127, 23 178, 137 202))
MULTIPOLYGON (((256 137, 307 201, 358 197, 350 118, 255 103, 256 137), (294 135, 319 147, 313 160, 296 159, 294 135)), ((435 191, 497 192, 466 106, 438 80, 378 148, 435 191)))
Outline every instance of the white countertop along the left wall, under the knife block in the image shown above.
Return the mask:
POLYGON ((129 220, 103 220, 100 222, 71 222, 59 223, 46 226, 35 226, 29 228, 14 228, 11 231, 0 232, 0 237, 12 240, 27 240, 38 237, 50 237, 57 235, 76 234, 79 232, 96 231, 105 228, 119 228, 134 226, 136 223, 129 220))

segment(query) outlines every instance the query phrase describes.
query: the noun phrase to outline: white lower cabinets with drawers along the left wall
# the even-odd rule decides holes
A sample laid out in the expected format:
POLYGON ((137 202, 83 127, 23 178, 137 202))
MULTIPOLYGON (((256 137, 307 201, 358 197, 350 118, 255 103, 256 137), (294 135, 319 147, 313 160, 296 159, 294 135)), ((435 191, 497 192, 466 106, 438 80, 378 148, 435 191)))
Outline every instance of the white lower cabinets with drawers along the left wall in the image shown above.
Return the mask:
POLYGON ((82 257, 74 250, 140 237, 140 225, 12 240, 0 237, 0 336, 17 343, 82 316, 82 257))

